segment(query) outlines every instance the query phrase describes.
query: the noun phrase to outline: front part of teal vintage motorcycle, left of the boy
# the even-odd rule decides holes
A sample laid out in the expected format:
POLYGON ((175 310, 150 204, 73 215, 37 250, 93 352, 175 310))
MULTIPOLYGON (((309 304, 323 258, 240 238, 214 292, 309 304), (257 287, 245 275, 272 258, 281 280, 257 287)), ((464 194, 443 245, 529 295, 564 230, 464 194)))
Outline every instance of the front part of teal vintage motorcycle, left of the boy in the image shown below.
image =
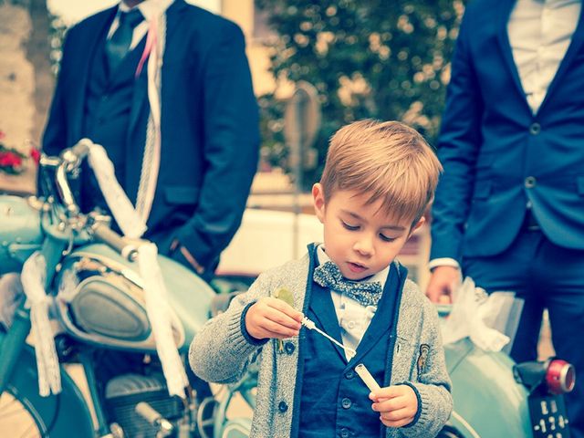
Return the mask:
MULTIPOLYGON (((184 398, 169 395, 135 262, 136 243, 113 232, 109 216, 82 214, 71 192, 69 180, 77 175, 84 154, 78 144, 59 157, 41 158, 44 198, 0 194, 0 281, 12 276, 17 289, 20 281, 14 273, 36 251, 44 256, 43 303, 52 319, 61 386, 57 394, 39 395, 38 351, 27 343, 36 339, 34 330, 29 337, 30 300, 20 299, 14 318, 5 324, 9 327, 0 324, 0 435, 247 436, 249 420, 228 420, 225 412, 237 394, 253 408, 253 379, 251 384, 224 387, 220 397, 203 401, 191 386, 184 398), (141 371, 98 381, 94 358, 107 349, 136 353, 141 371), (83 370, 87 398, 79 379, 69 376, 71 364, 83 370)), ((209 318, 215 293, 169 258, 159 255, 158 265, 169 295, 172 336, 192 382, 186 353, 194 333, 209 318)))

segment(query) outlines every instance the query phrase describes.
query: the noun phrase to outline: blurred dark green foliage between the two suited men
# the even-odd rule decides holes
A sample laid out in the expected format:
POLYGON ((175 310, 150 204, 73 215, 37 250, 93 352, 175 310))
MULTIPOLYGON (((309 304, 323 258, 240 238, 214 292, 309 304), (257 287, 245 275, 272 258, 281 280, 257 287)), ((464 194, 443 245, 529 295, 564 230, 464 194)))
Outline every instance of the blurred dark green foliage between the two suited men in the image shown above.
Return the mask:
MULTIPOLYGON (((318 89, 320 164, 330 135, 353 120, 403 120, 433 143, 463 0, 256 0, 256 6, 277 34, 267 45, 278 82, 306 80, 318 89)), ((260 106, 264 156, 286 168, 283 104, 266 95, 260 106)))

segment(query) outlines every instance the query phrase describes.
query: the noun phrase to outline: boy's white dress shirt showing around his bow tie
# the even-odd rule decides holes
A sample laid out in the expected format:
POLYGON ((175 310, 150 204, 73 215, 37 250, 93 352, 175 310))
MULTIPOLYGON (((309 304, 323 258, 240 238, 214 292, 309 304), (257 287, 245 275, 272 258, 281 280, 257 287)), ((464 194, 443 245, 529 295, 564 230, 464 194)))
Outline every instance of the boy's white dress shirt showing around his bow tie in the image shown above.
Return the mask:
MULTIPOLYGON (((324 245, 318 245, 317 256, 319 265, 330 261, 327 253, 325 253, 324 245)), ((385 280, 389 272, 390 266, 387 266, 374 276, 370 276, 362 281, 365 283, 379 281, 381 287, 385 287, 385 280)), ((357 349, 363 335, 367 331, 367 328, 369 328, 371 319, 375 316, 377 306, 363 306, 359 301, 332 289, 330 289, 330 297, 332 297, 332 302, 337 312, 343 345, 351 349, 357 349)), ((347 350, 345 350, 345 357, 347 360, 350 360, 350 354, 347 350)))

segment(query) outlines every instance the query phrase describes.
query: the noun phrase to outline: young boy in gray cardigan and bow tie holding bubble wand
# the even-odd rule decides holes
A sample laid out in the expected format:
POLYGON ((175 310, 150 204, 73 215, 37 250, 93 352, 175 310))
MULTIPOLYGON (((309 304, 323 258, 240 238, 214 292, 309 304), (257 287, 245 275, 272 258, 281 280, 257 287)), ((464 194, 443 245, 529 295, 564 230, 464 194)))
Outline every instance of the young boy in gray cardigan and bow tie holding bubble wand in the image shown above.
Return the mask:
POLYGON ((312 188, 324 245, 259 276, 191 345, 208 381, 237 381, 261 356, 251 436, 430 438, 443 427, 452 397, 438 317, 394 261, 441 170, 422 136, 396 121, 333 136, 312 188), (276 298, 283 290, 293 306, 276 298), (344 349, 302 328, 305 316, 344 349), (381 389, 360 380, 360 363, 381 389))

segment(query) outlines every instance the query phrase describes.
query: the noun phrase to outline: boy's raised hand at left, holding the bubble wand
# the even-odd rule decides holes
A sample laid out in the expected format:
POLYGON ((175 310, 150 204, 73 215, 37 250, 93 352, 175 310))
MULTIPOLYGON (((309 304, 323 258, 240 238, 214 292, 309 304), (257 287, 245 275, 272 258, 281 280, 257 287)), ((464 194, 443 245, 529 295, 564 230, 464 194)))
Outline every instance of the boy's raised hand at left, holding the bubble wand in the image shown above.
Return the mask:
POLYGON ((302 313, 281 299, 263 297, 245 314, 245 328, 255 339, 286 339, 298 336, 302 313))

